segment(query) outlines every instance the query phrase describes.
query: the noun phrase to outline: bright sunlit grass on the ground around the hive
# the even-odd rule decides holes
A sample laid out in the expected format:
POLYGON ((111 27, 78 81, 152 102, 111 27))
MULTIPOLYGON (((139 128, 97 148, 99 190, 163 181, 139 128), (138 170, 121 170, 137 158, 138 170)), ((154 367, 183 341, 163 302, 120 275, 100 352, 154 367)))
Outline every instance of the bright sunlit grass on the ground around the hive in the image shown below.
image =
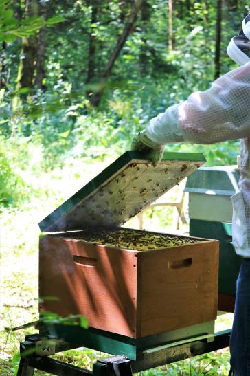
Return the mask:
MULTIPOLYGON (((80 159, 69 159, 64 168, 50 172, 23 171, 22 178, 32 184, 32 194, 19 208, 3 208, 1 221, 1 313, 0 313, 0 374, 14 375, 19 362, 19 342, 32 329, 12 331, 14 327, 38 320, 38 222, 56 206, 80 189, 111 161, 87 164, 80 159)), ((30 190, 29 190, 30 192, 30 190)), ((174 193, 172 194, 174 195, 174 193)), ((173 208, 151 210, 145 213, 144 227, 173 232, 173 208)), ((137 226, 132 219, 128 227, 137 226)), ((182 228, 185 232, 187 228, 182 228)), ((217 329, 231 324, 231 316, 219 318, 217 329)), ((55 355, 57 359, 91 368, 104 354, 89 349, 76 349, 55 355)), ((229 351, 216 353, 154 368, 137 375, 227 375, 229 351)), ((48 375, 36 371, 35 375, 48 375)))

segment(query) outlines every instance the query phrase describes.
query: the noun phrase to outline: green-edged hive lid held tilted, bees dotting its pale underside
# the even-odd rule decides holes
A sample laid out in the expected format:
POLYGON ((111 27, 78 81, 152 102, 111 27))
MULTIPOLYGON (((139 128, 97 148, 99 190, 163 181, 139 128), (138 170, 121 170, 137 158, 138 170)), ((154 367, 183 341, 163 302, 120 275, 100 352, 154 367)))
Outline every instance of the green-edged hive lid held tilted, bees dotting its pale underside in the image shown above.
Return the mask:
POLYGON ((39 226, 44 232, 120 226, 204 162, 202 154, 164 153, 154 167, 150 155, 126 151, 39 226))

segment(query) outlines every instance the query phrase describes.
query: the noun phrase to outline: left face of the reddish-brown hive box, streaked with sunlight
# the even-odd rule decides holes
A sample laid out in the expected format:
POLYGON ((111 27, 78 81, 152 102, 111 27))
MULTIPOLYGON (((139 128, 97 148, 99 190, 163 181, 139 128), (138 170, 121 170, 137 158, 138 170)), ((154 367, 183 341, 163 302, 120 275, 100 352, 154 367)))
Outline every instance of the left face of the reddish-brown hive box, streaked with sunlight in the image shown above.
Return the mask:
POLYGON ((41 310, 82 314, 89 327, 136 336, 137 252, 44 236, 40 243, 41 310))

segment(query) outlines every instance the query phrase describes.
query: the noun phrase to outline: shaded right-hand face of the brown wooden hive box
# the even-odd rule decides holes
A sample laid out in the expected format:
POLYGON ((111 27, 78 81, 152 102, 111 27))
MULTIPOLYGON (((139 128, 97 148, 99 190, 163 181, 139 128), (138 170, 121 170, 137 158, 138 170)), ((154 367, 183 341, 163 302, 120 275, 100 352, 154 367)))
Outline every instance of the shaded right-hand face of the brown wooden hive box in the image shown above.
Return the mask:
POLYGON ((141 252, 139 336, 216 318, 218 241, 141 252), (175 265, 175 267, 174 267, 175 265))

